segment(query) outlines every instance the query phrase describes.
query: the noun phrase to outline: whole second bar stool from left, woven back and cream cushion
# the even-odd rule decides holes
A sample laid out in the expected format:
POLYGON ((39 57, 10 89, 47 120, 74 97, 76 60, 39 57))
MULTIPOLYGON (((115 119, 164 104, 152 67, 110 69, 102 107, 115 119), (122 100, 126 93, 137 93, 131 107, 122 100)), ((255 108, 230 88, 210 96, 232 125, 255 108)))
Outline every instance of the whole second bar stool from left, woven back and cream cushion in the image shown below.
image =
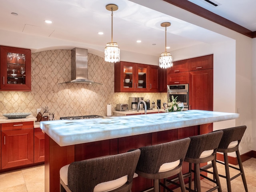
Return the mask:
MULTIPOLYGON (((154 180, 154 192, 159 192, 159 180, 178 174, 182 192, 185 184, 182 177, 182 163, 184 161, 190 138, 146 146, 140 148, 141 154, 136 173, 144 178, 154 180)), ((165 191, 170 189, 163 185, 165 191)))

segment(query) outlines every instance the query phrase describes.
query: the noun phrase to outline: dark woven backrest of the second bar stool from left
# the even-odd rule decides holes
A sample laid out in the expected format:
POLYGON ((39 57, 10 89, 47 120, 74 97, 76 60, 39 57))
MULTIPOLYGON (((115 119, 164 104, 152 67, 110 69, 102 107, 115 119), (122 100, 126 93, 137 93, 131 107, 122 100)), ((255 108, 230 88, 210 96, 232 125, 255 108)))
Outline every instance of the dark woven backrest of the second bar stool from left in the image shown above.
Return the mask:
POLYGON ((180 160, 178 166, 182 166, 190 138, 175 140, 162 144, 141 147, 140 158, 137 169, 149 174, 159 172, 160 166, 164 163, 175 162, 180 160))

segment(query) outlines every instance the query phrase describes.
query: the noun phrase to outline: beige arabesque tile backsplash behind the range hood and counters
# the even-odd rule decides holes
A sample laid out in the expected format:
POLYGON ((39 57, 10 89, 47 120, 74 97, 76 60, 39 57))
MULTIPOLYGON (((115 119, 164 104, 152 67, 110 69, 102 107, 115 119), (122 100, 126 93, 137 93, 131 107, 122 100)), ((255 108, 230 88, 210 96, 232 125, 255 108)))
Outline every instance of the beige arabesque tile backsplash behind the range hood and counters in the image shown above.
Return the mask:
POLYGON ((106 116, 107 104, 112 111, 118 103, 127 103, 129 97, 144 97, 166 102, 166 93, 115 93, 114 64, 88 53, 88 79, 99 84, 69 83, 71 79, 71 50, 48 50, 32 53, 32 90, 0 91, 0 111, 30 112, 48 106, 55 118, 60 116, 106 116))

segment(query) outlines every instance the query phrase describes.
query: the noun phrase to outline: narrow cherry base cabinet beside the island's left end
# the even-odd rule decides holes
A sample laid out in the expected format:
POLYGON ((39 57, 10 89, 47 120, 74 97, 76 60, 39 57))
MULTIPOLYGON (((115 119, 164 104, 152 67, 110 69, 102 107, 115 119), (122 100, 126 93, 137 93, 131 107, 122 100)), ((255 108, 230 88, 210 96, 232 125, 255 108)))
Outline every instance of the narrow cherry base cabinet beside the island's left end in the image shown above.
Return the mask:
POLYGON ((34 128, 34 163, 44 162, 44 133, 34 128))

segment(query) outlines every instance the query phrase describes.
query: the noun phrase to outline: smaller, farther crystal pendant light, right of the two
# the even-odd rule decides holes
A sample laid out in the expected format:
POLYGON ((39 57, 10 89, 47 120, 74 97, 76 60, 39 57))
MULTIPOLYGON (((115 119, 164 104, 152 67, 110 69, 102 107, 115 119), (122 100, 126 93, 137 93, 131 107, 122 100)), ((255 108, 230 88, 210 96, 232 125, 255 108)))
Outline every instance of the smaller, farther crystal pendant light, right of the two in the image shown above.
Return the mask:
POLYGON ((166 27, 170 26, 170 22, 161 23, 162 27, 165 27, 165 52, 162 52, 159 57, 159 66, 160 68, 170 68, 172 67, 172 56, 169 52, 166 52, 166 27))

